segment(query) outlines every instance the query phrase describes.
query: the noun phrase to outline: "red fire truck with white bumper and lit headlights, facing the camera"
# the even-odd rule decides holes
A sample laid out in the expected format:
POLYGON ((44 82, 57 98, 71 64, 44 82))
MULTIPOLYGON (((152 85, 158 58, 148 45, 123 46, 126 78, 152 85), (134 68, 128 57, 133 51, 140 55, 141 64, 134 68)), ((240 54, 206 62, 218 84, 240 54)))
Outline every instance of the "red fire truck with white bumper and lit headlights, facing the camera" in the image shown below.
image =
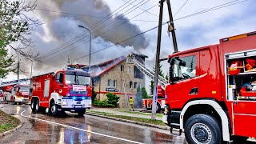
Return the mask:
POLYGON ((48 109, 58 116, 71 111, 82 116, 91 106, 92 86, 90 74, 82 70, 59 70, 31 78, 30 95, 32 111, 48 109))

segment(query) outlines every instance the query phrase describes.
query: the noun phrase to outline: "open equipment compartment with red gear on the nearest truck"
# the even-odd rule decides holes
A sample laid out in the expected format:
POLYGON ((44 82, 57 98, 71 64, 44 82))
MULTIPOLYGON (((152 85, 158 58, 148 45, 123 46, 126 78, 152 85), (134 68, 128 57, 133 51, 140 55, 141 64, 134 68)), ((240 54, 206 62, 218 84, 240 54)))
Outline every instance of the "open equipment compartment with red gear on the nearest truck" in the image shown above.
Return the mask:
POLYGON ((226 58, 228 100, 256 100, 256 56, 226 58))

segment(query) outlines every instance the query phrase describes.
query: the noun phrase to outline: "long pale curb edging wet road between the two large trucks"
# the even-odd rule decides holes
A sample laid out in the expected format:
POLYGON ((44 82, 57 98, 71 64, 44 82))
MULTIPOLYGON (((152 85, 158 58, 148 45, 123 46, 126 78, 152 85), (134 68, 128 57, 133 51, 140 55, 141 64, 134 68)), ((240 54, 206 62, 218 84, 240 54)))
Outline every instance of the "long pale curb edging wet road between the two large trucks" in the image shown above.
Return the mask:
POLYGON ((150 126, 150 127, 155 127, 155 128, 162 129, 162 130, 170 130, 170 127, 167 127, 167 126, 158 126, 158 125, 154 125, 154 124, 150 124, 150 123, 145 123, 145 122, 136 122, 136 121, 126 120, 126 119, 122 119, 122 118, 113 118, 113 117, 108 117, 105 114, 104 115, 93 114, 93 113, 86 113, 86 114, 92 115, 92 116, 96 116, 96 117, 101 117, 101 118, 113 119, 113 120, 121 121, 121 122, 134 123, 134 124, 141 125, 141 126, 150 126))

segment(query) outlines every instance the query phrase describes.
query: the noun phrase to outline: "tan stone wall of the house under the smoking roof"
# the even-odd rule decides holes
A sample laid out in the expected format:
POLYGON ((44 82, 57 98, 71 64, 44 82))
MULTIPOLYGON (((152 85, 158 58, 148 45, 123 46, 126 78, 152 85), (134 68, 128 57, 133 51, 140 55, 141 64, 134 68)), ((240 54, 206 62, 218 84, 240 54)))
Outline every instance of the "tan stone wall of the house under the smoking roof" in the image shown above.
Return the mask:
POLYGON ((97 92, 97 99, 102 101, 106 99, 106 94, 108 92, 117 94, 119 96, 119 106, 122 108, 126 107, 129 96, 134 96, 136 94, 138 86, 145 86, 145 78, 134 78, 134 64, 127 63, 126 60, 114 66, 111 70, 107 71, 98 77, 97 82, 94 86, 94 91, 97 92), (121 71, 121 66, 123 66, 123 71, 121 71), (130 73, 127 71, 127 67, 130 66, 130 73), (110 80, 110 86, 108 86, 108 80, 110 80), (116 86, 114 86, 114 80, 116 80, 116 86), (130 88, 130 82, 132 83, 130 88), (134 87, 134 83, 137 86, 134 87), (123 86, 123 83, 125 85, 123 86), (125 87, 125 90, 123 89, 125 87), (116 91, 110 91, 107 89, 113 89, 116 91), (126 96, 125 93, 126 92, 126 96))

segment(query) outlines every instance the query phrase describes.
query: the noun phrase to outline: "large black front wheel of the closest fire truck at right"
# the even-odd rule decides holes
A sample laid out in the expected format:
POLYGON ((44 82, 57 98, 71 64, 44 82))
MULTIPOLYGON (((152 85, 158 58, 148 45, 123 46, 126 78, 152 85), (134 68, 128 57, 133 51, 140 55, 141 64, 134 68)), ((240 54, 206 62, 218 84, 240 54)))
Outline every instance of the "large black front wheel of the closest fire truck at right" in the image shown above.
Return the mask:
POLYGON ((185 136, 190 144, 222 143, 222 130, 218 121, 206 114, 196 114, 186 121, 185 136))

